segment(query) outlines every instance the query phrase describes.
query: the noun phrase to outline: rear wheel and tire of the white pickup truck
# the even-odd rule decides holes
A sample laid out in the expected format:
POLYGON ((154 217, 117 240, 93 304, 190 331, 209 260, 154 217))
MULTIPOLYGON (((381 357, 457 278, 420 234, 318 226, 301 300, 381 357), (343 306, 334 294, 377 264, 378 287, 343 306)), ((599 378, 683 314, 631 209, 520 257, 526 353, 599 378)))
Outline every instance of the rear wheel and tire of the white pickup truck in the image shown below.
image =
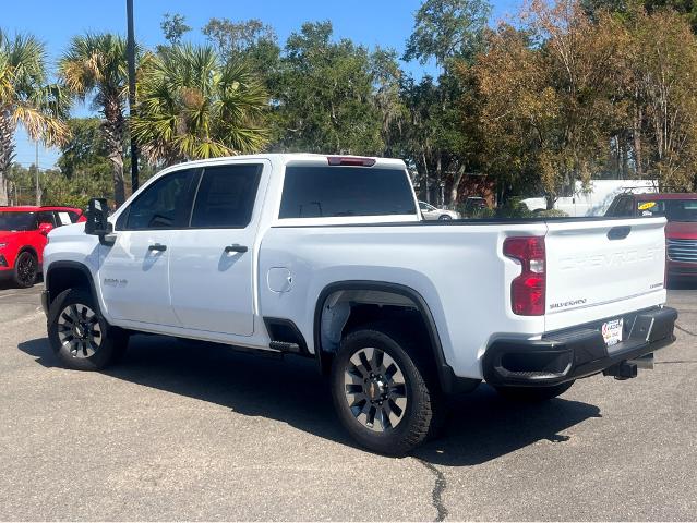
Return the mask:
POLYGON ((332 397, 346 430, 363 447, 404 455, 423 442, 443 411, 418 338, 388 324, 347 335, 332 364, 332 397))

